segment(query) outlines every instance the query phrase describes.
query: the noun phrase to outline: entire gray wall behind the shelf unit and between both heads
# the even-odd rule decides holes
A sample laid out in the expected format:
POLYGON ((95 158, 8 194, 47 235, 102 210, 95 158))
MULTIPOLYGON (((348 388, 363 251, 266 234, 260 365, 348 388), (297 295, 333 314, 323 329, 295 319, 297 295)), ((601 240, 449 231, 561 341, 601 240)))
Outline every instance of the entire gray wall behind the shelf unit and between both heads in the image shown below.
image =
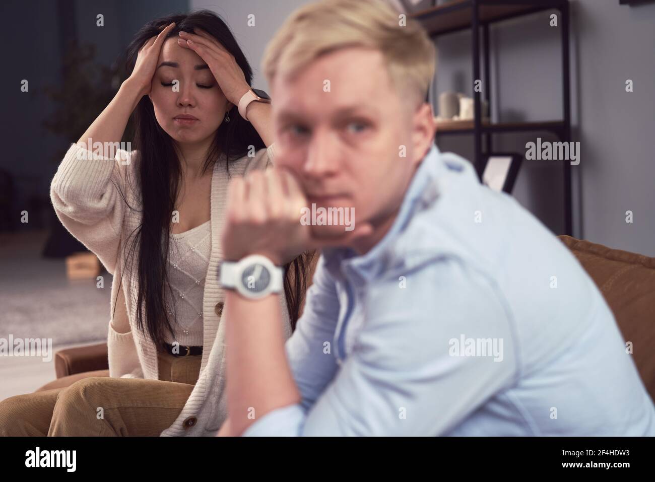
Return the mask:
MULTIPOLYGON (((259 72, 267 40, 286 16, 307 1, 191 0, 191 8, 221 14, 255 69, 255 86, 268 88, 259 72), (247 26, 248 14, 256 26, 247 26)), ((561 117, 559 30, 550 12, 496 24, 491 29, 494 121, 561 117)), ((612 248, 655 256, 655 4, 571 0, 571 114, 581 160, 574 176, 574 236, 612 248), (635 91, 625 91, 632 79, 635 91), (634 214, 632 224, 625 213, 634 214)), ((472 94, 470 33, 441 37, 434 90, 472 94)), ((436 111, 436 109, 435 109, 436 111)), ((525 143, 546 133, 496 135, 496 151, 525 152, 525 143)), ((440 149, 472 158, 472 136, 440 138, 440 149)), ((555 161, 524 161, 514 195, 553 232, 563 232, 562 169, 555 161)))

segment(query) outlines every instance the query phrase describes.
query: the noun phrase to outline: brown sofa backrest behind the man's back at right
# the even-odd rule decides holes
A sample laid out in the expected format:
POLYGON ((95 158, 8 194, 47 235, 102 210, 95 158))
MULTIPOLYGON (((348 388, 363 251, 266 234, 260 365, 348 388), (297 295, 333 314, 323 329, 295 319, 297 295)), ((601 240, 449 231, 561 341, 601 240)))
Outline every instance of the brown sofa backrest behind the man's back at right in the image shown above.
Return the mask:
POLYGON ((605 297, 650 398, 655 400, 655 258, 558 236, 605 297))

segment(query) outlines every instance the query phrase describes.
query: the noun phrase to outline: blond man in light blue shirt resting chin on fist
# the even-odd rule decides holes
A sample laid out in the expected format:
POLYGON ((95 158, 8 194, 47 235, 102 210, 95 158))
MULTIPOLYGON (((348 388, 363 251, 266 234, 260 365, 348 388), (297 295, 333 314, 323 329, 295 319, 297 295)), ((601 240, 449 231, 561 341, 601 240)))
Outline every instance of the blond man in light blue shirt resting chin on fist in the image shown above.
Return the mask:
POLYGON ((434 59, 372 0, 307 5, 269 44, 276 167, 232 181, 221 240, 220 435, 655 434, 580 264, 433 145, 434 59), (278 267, 310 248, 284 344, 278 267))

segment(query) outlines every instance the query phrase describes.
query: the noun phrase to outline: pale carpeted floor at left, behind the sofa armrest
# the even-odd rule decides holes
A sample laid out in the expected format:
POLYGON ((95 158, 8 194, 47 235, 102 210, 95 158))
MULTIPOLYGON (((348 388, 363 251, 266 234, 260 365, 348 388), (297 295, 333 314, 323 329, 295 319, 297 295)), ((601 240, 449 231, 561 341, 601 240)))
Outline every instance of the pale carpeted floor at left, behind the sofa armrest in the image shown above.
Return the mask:
MULTIPOLYGON (((68 280, 64 259, 45 259, 47 231, 0 234, 0 338, 52 339, 54 352, 107 339, 111 274, 68 280)), ((0 356, 0 399, 54 379, 54 362, 0 356)))

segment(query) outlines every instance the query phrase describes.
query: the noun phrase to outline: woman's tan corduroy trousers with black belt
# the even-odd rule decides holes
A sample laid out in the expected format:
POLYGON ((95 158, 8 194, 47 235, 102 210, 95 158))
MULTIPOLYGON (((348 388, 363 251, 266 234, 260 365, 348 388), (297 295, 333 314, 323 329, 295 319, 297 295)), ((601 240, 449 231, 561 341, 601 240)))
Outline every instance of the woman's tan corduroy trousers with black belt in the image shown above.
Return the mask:
POLYGON ((178 418, 202 356, 159 353, 159 380, 88 377, 0 401, 0 436, 159 436, 178 418))

